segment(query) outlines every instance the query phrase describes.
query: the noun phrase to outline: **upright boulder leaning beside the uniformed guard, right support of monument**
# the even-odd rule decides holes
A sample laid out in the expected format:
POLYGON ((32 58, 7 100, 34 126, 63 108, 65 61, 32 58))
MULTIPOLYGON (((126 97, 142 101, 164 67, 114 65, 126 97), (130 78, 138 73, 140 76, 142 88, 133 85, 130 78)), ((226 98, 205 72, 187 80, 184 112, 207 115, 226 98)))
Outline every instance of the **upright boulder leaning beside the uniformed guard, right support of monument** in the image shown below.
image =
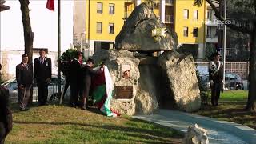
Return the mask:
POLYGON ((166 51, 160 54, 158 65, 166 70, 178 108, 186 112, 198 110, 201 98, 193 57, 177 51, 166 51))

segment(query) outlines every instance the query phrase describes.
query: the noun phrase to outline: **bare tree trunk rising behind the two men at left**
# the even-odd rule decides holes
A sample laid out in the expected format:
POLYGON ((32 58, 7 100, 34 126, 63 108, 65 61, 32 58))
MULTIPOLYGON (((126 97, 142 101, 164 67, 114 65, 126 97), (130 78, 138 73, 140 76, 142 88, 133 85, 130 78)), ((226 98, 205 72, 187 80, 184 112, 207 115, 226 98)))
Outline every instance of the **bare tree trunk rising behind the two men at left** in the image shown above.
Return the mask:
POLYGON ((19 0, 22 11, 22 23, 24 31, 25 53, 29 56, 29 63, 32 64, 34 33, 30 24, 29 0, 19 0))

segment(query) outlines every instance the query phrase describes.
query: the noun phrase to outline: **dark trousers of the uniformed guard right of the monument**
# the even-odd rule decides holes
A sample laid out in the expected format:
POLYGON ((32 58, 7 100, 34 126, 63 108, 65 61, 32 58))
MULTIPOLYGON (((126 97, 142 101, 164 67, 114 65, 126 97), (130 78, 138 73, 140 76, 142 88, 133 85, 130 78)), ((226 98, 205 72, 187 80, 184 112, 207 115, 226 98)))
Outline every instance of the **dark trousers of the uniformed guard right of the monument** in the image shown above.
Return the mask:
POLYGON ((218 99, 221 94, 221 82, 214 82, 214 85, 211 89, 211 105, 218 106, 218 99))

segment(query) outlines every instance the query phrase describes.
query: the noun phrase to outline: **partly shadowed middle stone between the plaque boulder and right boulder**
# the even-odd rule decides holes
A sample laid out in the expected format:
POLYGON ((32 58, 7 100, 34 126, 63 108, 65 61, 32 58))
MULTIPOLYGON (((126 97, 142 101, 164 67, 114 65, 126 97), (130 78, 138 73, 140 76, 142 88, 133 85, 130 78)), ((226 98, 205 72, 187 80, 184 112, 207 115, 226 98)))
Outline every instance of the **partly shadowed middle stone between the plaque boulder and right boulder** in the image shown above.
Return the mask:
POLYGON ((136 114, 153 114, 158 110, 158 100, 161 89, 159 88, 159 67, 156 65, 158 58, 140 58, 138 66, 140 78, 138 79, 138 93, 135 97, 136 114))

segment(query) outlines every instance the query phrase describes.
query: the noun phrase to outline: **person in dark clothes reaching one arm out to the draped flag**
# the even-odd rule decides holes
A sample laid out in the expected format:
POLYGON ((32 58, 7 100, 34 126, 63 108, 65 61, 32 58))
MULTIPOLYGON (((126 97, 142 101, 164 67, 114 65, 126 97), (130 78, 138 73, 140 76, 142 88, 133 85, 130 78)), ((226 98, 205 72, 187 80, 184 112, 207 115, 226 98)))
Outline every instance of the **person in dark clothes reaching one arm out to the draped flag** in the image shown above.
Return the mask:
POLYGON ((91 85, 91 80, 92 77, 95 74, 102 74, 103 72, 103 66, 101 66, 101 69, 99 70, 94 70, 94 60, 91 58, 88 58, 86 61, 86 66, 82 68, 82 110, 87 110, 86 106, 86 99, 89 96, 90 92, 90 85, 91 85))

